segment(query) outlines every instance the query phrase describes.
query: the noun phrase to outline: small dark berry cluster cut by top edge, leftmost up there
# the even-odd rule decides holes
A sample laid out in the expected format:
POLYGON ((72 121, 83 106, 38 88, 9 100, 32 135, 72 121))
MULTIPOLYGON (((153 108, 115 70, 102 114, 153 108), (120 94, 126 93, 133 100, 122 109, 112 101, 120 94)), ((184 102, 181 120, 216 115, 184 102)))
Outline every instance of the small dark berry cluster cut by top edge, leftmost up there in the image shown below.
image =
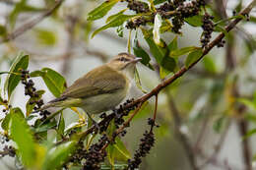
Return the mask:
POLYGON ((138 13, 148 13, 150 11, 149 6, 145 2, 136 1, 136 0, 128 0, 127 7, 138 13))

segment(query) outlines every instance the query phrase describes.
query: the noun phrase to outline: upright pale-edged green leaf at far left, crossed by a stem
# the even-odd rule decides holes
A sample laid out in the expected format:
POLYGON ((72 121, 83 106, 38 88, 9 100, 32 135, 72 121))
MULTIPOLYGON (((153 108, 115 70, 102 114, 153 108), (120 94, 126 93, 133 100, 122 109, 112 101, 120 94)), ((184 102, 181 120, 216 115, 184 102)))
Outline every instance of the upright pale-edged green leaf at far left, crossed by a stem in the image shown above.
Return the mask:
MULTIPOLYGON (((29 66, 29 55, 20 54, 13 62, 9 72, 20 73, 20 69, 26 70, 28 66, 29 66)), ((9 99, 13 90, 19 84, 20 81, 21 81, 21 75, 19 74, 10 74, 7 76, 4 88, 5 88, 5 91, 8 92, 9 99)))

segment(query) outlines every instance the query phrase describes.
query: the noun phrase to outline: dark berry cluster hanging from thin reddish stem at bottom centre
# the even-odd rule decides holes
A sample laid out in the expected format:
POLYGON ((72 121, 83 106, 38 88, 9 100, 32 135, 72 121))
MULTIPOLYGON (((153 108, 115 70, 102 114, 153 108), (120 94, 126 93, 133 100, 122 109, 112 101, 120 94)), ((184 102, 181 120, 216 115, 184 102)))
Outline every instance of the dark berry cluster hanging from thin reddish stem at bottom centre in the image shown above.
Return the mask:
POLYGON ((143 134, 143 139, 141 139, 141 143, 139 149, 136 150, 134 154, 134 159, 128 159, 128 169, 134 170, 139 168, 139 165, 142 162, 142 157, 145 157, 147 153, 150 152, 151 148, 154 146, 155 143, 155 136, 152 131, 146 131, 143 134))

